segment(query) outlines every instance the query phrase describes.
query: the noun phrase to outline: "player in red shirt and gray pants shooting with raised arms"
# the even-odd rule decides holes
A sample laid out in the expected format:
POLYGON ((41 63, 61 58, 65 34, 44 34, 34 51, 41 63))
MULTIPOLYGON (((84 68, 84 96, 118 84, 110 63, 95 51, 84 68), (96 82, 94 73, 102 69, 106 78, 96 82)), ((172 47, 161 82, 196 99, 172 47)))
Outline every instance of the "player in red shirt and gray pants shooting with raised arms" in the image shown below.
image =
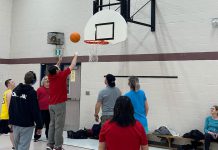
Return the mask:
POLYGON ((57 65, 48 69, 49 75, 49 112, 50 124, 48 132, 47 150, 62 150, 63 145, 63 129, 65 124, 66 100, 67 100, 67 77, 71 70, 76 66, 77 53, 75 53, 70 66, 64 71, 60 71, 59 59, 57 65))

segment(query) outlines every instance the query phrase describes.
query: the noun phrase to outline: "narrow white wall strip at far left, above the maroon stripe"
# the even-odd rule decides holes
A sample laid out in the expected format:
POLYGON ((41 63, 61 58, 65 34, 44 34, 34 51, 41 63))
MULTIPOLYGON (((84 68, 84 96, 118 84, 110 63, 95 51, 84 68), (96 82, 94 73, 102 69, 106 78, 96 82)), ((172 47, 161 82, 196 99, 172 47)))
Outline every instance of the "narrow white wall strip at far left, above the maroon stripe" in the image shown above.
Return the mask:
POLYGON ((10 57, 12 0, 0 0, 0 58, 10 57))

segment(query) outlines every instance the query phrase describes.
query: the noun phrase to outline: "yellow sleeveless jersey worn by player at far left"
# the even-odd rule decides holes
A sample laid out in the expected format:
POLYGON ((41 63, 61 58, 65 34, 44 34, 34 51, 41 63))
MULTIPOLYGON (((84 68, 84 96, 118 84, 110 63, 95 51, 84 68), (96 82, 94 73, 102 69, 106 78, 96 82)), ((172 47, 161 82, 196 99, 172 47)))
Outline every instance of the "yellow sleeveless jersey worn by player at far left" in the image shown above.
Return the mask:
POLYGON ((0 114, 1 120, 8 120, 9 119, 9 113, 8 113, 8 100, 7 100, 7 94, 11 92, 11 89, 7 89, 3 94, 3 101, 2 101, 2 109, 0 114))

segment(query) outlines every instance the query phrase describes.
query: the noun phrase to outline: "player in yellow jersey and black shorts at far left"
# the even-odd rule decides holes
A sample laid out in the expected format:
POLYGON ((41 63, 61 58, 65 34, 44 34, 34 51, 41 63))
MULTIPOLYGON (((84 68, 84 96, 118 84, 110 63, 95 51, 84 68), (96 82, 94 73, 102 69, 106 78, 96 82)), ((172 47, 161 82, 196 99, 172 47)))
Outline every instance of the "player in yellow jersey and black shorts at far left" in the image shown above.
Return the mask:
POLYGON ((11 143, 13 145, 12 149, 14 149, 14 138, 11 128, 9 127, 9 105, 11 100, 12 90, 15 88, 15 83, 12 79, 8 79, 5 81, 5 86, 7 89, 3 93, 2 106, 1 106, 1 114, 0 114, 0 134, 8 134, 10 133, 11 143))

